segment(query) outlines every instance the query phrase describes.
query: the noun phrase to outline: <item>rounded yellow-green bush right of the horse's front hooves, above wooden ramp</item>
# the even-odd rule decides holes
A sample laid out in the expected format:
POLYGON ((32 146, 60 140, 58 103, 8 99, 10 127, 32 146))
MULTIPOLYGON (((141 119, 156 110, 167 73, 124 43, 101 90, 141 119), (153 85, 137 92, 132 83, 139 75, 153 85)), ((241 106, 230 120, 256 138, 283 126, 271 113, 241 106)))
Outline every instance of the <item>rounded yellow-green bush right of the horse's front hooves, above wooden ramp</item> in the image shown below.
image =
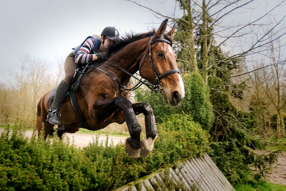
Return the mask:
POLYGON ((159 143, 156 143, 155 148, 164 153, 169 163, 179 157, 202 155, 209 145, 207 131, 185 113, 171 115, 158 126, 158 131, 159 143))

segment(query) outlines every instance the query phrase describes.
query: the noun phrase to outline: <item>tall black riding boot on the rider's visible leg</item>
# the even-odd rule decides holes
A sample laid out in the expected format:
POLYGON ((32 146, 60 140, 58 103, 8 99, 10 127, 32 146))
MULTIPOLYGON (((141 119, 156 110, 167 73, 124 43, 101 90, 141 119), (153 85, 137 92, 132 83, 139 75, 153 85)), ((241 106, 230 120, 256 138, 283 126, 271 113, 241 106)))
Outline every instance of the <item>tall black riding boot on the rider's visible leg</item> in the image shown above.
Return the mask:
POLYGON ((67 84, 64 80, 62 80, 58 84, 58 88, 55 93, 55 97, 52 103, 52 106, 50 110, 48 111, 48 121, 54 125, 59 125, 60 124, 60 107, 62 104, 63 98, 66 97, 67 92, 70 88, 70 84, 67 84))

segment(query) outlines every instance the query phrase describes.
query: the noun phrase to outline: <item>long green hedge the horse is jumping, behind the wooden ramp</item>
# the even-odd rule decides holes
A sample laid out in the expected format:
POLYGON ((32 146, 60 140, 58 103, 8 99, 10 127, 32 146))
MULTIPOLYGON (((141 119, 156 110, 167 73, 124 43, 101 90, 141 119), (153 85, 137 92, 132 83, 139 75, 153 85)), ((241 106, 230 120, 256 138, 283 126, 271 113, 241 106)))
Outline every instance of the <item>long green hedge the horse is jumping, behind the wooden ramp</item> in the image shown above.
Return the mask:
POLYGON ((57 137, 28 140, 8 131, 0 137, 0 190, 112 190, 208 149, 206 132, 185 114, 158 125, 148 159, 128 157, 124 145, 95 140, 80 149, 57 137))

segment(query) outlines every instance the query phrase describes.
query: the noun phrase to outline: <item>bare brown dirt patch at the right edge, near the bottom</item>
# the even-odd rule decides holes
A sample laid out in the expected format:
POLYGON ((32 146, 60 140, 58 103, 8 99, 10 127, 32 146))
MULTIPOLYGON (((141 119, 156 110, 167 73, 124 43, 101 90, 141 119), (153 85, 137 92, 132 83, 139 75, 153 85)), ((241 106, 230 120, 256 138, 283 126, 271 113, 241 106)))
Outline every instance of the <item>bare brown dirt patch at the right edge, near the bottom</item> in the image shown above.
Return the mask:
POLYGON ((278 162, 273 172, 267 175, 267 179, 274 184, 282 184, 286 186, 286 152, 279 155, 278 162))

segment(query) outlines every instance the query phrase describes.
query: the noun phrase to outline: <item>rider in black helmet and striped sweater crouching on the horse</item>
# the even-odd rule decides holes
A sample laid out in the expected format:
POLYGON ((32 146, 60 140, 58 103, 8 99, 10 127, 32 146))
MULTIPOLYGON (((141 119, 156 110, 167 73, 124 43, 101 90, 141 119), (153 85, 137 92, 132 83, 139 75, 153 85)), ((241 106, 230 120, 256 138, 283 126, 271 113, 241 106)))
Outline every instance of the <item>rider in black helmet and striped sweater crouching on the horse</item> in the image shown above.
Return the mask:
POLYGON ((71 87, 71 82, 75 69, 91 63, 94 60, 106 60, 109 57, 106 48, 113 45, 119 38, 118 30, 114 27, 107 26, 101 32, 100 38, 89 36, 84 43, 74 48, 65 61, 65 78, 58 84, 58 88, 53 99, 52 106, 48 111, 48 121, 54 125, 59 125, 60 107, 63 98, 66 96, 71 87), (90 38, 89 38, 90 37, 90 38))

